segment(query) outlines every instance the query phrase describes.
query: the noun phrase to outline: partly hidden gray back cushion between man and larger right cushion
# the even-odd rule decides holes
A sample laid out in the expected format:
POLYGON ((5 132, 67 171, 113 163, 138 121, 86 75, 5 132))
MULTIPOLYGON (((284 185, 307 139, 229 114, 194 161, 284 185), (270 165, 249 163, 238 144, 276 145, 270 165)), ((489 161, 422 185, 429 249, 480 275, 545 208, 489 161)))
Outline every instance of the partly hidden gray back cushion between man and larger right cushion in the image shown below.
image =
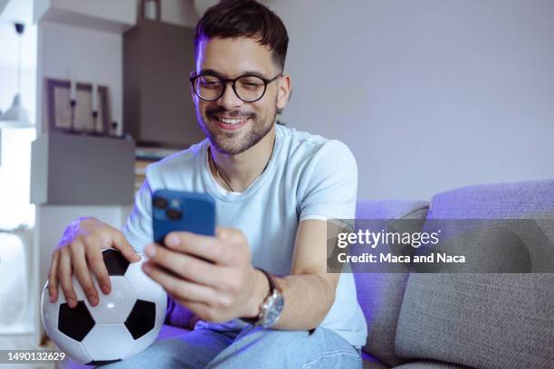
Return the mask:
MULTIPOLYGON (((356 219, 425 219, 427 208, 423 201, 362 201, 358 202, 356 219)), ((395 354, 394 343, 407 274, 357 273, 354 278, 368 323, 368 342, 363 350, 387 365, 403 363, 395 354)))

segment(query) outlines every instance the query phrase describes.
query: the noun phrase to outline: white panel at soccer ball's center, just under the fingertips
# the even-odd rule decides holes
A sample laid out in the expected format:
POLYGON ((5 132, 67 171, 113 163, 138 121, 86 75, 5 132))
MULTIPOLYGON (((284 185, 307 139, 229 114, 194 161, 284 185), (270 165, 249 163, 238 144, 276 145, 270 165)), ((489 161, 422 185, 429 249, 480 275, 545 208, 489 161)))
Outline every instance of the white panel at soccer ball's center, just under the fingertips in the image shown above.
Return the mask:
POLYGON ((87 300, 85 303, 96 323, 123 323, 137 301, 135 289, 125 277, 110 277, 111 291, 109 295, 102 294, 98 282, 94 278, 94 285, 99 291, 100 299, 93 307, 87 300))

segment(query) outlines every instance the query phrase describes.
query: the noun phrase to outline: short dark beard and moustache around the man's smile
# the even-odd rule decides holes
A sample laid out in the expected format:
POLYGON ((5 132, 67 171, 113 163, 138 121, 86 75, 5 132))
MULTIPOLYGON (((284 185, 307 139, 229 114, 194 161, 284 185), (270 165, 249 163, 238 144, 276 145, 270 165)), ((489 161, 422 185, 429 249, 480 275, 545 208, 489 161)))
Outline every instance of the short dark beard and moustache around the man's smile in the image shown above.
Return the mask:
POLYGON ((276 117, 276 104, 272 112, 264 118, 255 113, 229 111, 223 107, 205 109, 205 114, 202 114, 196 106, 196 118, 205 136, 217 151, 228 155, 241 154, 260 142, 271 131, 276 117), (250 118, 252 124, 249 123, 250 128, 244 133, 222 132, 219 128, 214 127, 215 115, 224 115, 229 118, 250 118))

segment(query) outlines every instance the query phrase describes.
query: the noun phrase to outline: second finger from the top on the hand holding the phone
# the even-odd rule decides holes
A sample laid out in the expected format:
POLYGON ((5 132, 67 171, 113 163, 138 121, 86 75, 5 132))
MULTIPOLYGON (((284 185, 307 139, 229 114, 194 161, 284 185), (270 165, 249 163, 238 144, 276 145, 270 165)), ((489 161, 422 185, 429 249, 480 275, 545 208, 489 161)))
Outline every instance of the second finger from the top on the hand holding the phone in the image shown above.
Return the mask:
POLYGON ((185 253, 169 250, 156 243, 149 244, 145 253, 150 261, 191 282, 217 289, 219 281, 225 278, 225 268, 185 253))

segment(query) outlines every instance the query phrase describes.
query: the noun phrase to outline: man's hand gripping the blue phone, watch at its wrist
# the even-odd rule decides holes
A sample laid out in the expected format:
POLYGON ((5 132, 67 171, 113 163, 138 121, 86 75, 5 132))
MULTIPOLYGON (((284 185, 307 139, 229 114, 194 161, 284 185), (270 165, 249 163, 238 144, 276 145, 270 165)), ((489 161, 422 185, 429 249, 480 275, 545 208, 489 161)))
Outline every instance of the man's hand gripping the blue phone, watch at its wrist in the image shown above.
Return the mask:
POLYGON ((203 320, 255 317, 269 284, 251 263, 243 232, 217 228, 215 237, 171 232, 167 247, 149 244, 143 270, 179 304, 203 320))

